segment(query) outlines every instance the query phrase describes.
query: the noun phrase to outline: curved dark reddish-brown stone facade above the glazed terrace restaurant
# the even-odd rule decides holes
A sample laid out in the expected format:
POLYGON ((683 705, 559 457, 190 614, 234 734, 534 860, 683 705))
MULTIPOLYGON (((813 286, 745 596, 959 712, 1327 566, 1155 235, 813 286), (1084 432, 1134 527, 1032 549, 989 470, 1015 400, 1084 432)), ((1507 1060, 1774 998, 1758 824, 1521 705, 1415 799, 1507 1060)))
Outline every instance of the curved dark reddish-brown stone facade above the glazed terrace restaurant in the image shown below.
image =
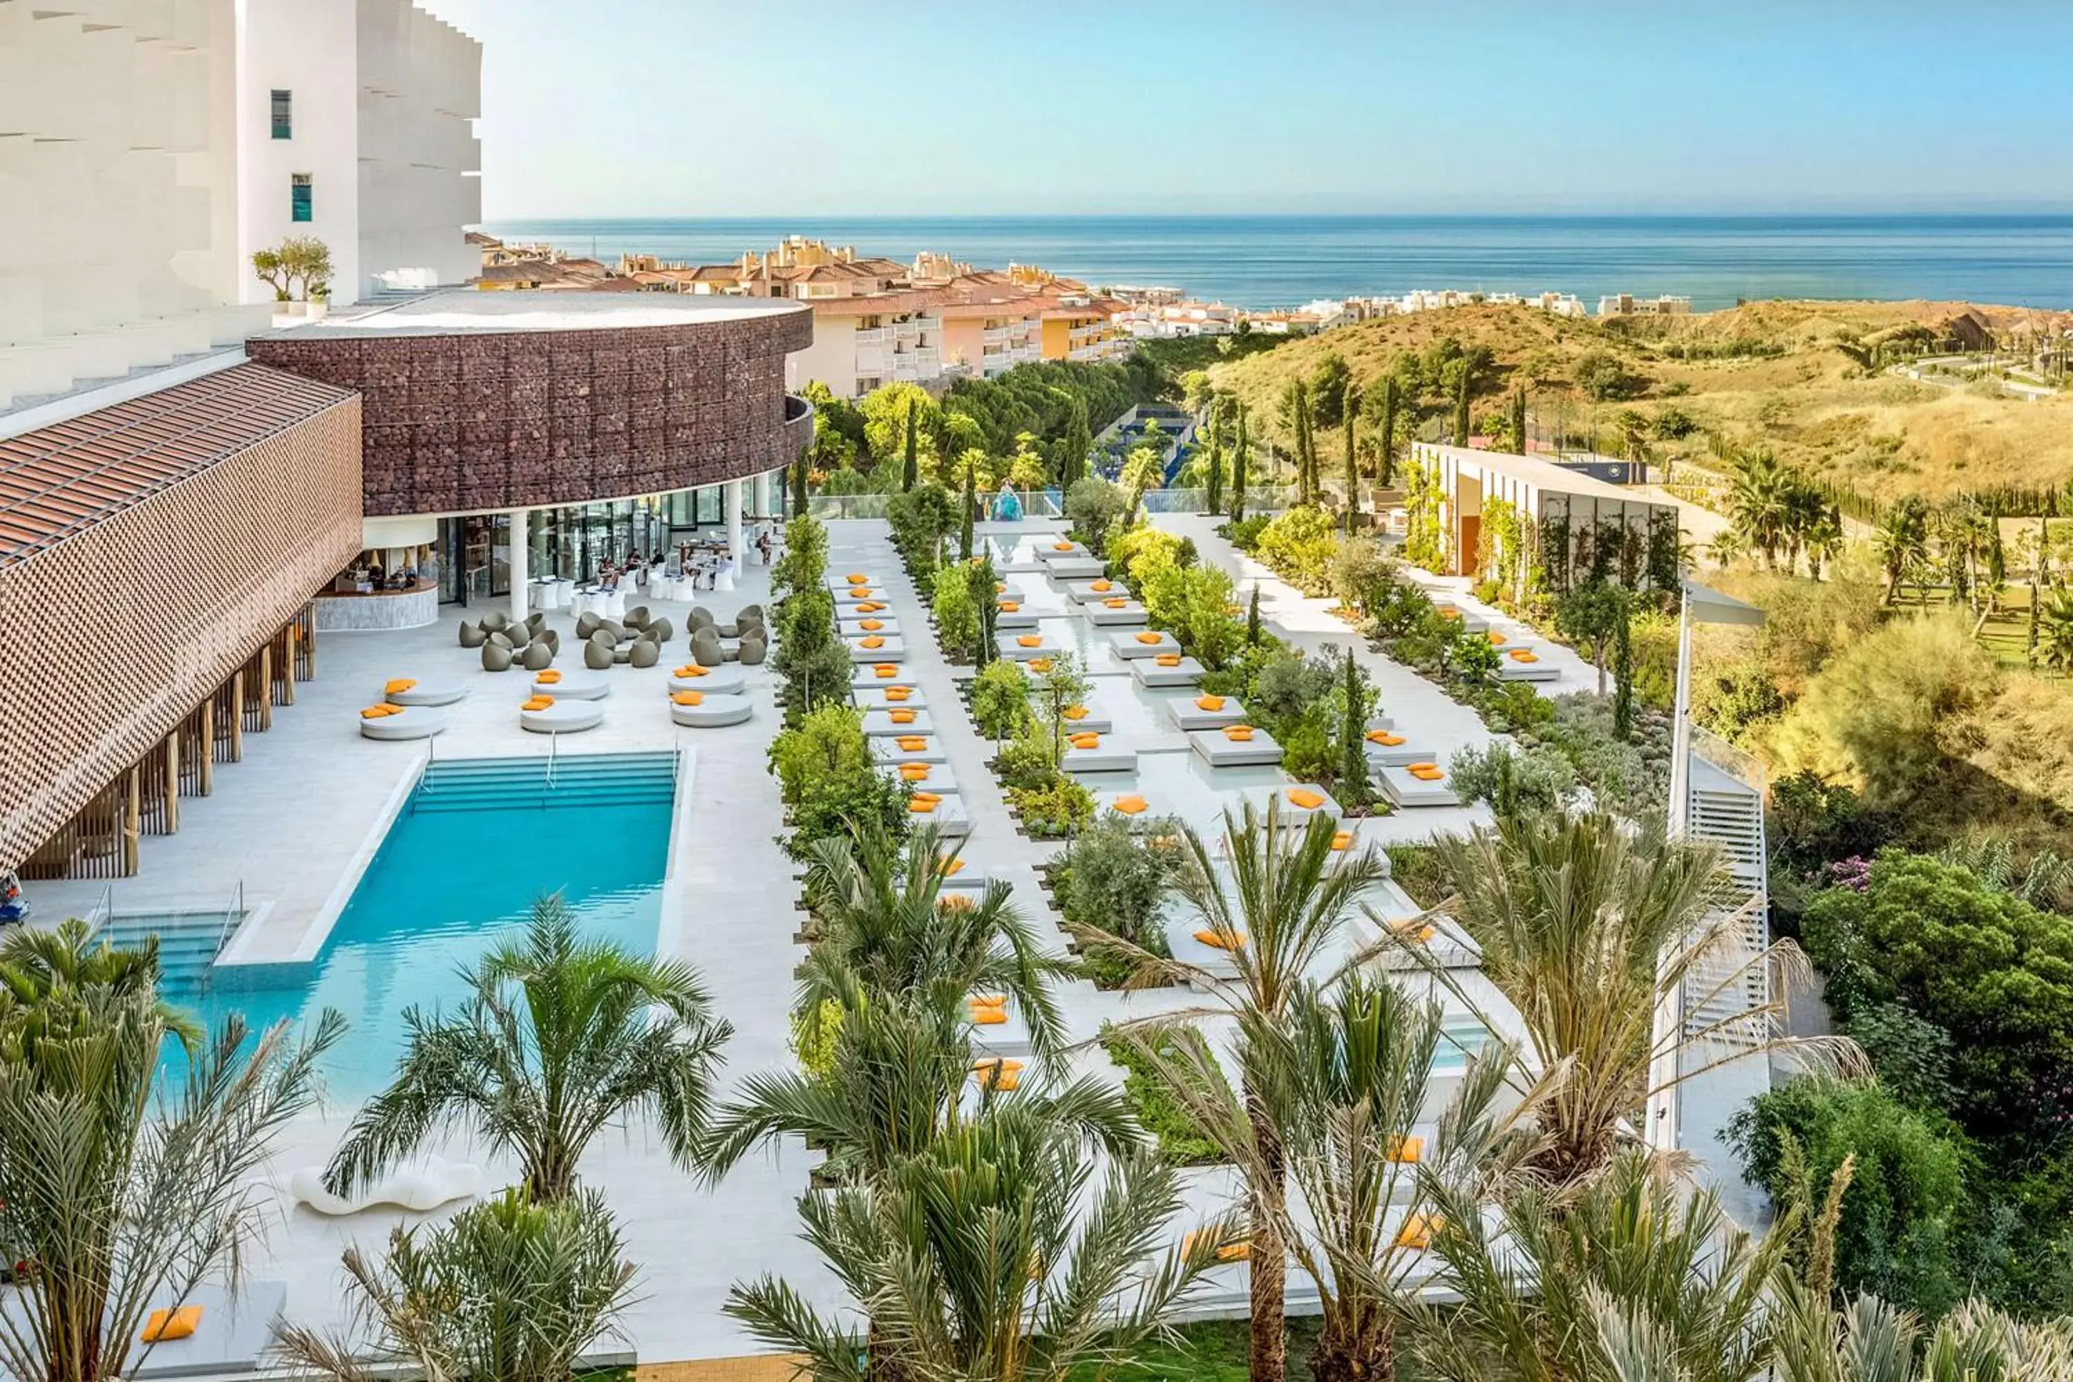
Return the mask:
POLYGON ((784 361, 813 313, 651 327, 261 338, 251 358, 359 390, 365 512, 466 514, 668 493, 792 464, 813 414, 784 361))

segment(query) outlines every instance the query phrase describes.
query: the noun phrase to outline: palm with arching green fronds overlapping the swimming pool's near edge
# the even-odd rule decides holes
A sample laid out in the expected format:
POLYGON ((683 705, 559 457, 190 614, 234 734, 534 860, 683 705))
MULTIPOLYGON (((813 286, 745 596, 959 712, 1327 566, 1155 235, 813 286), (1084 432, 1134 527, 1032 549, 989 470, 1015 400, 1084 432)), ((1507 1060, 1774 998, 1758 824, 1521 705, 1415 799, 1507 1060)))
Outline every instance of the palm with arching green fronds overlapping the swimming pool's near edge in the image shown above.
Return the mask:
POLYGON ((566 1198, 591 1138, 636 1111, 653 1117, 672 1160, 692 1162, 734 1028, 711 1017, 690 966, 583 941, 553 895, 533 903, 522 939, 464 978, 458 1013, 404 1013, 410 1042, 396 1082, 352 1119, 323 1173, 334 1193, 454 1125, 514 1154, 535 1200, 566 1198))

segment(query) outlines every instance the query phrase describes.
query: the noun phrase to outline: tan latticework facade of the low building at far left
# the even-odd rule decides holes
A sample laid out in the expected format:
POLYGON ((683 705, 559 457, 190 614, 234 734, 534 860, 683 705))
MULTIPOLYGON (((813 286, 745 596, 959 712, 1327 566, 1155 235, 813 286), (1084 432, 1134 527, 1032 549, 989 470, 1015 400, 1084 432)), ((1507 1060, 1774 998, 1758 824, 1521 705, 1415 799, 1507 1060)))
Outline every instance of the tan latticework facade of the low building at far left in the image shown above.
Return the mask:
MULTIPOLYGON (((240 367, 106 410, 120 416, 91 443, 178 450, 199 431, 170 421, 211 390, 218 416, 253 404, 245 437, 216 433, 184 479, 137 489, 62 541, 0 551, 0 868, 172 733, 361 547, 350 394, 240 367), (261 406, 284 394, 301 398, 292 421, 261 406), (139 441, 153 419, 137 410, 168 429, 139 441)), ((95 416, 48 429, 50 454, 77 448, 95 416)))

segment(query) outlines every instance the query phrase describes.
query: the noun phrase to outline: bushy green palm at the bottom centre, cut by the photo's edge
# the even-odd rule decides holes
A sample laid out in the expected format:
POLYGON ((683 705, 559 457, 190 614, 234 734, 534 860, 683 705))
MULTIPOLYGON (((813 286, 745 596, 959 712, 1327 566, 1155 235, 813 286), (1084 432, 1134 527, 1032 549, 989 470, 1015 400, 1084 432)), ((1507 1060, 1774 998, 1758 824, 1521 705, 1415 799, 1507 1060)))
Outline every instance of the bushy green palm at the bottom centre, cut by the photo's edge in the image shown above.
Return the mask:
POLYGON ((1076 1138, 999 1100, 885 1181, 800 1200, 869 1332, 773 1276, 736 1285, 726 1312, 817 1382, 1063 1382, 1126 1361, 1236 1241, 1213 1222, 1163 1249, 1180 1210, 1180 1175, 1153 1152, 1111 1156, 1097 1181, 1076 1138))

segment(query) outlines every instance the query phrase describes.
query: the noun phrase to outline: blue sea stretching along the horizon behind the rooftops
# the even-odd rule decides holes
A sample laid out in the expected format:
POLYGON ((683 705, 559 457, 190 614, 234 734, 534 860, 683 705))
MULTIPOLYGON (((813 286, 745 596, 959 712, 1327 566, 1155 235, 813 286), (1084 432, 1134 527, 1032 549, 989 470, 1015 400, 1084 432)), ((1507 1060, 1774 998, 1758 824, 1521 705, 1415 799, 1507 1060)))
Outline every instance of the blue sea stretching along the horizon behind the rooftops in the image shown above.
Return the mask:
POLYGON ((788 234, 1095 286, 1163 284, 1233 307, 1414 288, 1762 298, 1940 298, 2073 309, 2073 215, 910 215, 506 220, 607 263, 721 263, 788 234))

